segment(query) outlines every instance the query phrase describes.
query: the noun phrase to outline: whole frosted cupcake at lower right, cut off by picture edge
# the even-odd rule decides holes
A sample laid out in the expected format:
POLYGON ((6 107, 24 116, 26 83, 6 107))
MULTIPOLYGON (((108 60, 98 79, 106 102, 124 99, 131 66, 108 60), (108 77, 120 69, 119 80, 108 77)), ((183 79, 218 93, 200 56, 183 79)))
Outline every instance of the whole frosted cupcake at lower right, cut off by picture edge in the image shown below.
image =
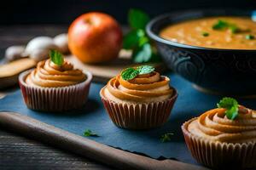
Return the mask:
POLYGON ((256 112, 224 98, 218 108, 184 122, 186 144, 197 161, 216 169, 256 168, 256 112))

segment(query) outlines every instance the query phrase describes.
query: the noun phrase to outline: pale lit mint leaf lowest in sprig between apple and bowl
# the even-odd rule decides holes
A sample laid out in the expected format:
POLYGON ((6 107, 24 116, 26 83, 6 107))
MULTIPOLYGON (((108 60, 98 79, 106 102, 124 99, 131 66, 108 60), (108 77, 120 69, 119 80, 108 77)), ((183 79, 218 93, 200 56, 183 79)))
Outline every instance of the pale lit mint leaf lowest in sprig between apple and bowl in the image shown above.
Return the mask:
POLYGON ((145 43, 143 47, 137 48, 132 54, 132 59, 135 63, 144 63, 148 62, 153 55, 151 45, 145 43))

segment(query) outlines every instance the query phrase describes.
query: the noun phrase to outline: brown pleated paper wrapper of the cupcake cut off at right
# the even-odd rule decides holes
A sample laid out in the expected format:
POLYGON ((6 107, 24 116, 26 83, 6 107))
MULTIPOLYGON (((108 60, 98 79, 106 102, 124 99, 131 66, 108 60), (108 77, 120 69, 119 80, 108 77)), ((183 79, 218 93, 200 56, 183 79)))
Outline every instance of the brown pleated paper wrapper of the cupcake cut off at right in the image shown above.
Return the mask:
POLYGON ((232 144, 202 139, 187 130, 195 119, 184 122, 182 130, 189 151, 198 162, 214 169, 256 168, 256 142, 232 144))

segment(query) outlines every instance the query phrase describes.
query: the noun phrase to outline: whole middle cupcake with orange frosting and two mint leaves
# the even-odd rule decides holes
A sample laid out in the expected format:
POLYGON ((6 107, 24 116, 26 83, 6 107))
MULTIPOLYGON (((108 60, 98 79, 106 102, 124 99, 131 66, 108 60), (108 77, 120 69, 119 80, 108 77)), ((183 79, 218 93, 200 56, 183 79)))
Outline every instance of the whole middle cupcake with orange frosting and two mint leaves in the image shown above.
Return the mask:
POLYGON ((109 80, 100 94, 113 123, 129 129, 148 129, 163 125, 177 99, 170 79, 154 67, 127 68, 109 80))

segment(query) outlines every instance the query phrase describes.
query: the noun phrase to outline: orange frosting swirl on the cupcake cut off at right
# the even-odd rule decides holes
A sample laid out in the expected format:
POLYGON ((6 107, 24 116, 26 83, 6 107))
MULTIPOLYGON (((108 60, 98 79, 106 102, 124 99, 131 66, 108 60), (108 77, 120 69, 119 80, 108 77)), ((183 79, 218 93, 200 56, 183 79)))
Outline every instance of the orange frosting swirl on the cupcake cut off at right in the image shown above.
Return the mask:
POLYGON ((207 111, 189 123, 188 131, 212 141, 243 143, 256 141, 256 111, 239 106, 239 116, 230 120, 225 109, 207 111))

